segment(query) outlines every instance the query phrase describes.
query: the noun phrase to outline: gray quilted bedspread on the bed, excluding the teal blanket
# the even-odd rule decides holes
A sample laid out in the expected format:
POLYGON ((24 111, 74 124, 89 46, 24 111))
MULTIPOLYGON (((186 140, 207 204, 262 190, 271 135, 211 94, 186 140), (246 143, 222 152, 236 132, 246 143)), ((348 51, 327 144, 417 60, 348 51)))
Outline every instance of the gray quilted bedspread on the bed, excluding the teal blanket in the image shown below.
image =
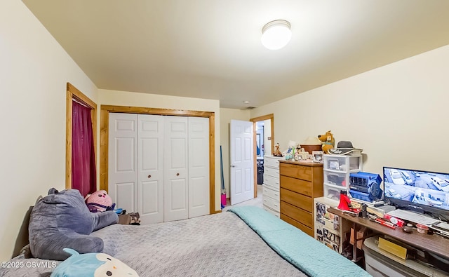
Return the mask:
MULTIPOLYGON (((114 224, 92 236, 103 239, 103 252, 140 276, 305 276, 232 212, 142 226, 114 224)), ((33 261, 43 260, 11 260, 33 261)), ((0 269, 0 276, 48 275, 53 265, 43 265, 0 269)))

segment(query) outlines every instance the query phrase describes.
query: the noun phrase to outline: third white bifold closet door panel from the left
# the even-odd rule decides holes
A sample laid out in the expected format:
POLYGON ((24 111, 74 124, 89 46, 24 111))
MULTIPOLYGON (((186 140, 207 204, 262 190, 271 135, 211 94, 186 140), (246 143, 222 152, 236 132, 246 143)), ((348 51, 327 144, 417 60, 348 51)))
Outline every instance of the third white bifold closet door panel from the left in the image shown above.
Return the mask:
POLYGON ((164 221, 186 219, 188 207, 187 117, 164 118, 164 221))

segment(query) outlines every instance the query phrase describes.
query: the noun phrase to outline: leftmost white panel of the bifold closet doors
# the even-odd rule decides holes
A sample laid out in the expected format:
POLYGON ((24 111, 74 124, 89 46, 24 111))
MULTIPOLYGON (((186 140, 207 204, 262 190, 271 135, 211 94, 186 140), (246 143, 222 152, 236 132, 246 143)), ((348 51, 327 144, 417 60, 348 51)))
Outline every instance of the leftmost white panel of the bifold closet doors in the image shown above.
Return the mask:
POLYGON ((135 212, 137 114, 109 113, 108 194, 116 208, 135 212))

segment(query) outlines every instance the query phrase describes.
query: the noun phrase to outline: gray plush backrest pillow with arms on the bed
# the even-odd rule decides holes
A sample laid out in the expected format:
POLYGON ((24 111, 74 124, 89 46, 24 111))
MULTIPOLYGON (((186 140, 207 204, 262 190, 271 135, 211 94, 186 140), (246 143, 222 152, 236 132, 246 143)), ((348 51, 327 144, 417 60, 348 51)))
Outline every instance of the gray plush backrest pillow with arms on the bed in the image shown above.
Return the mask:
POLYGON ((89 236, 93 231, 119 222, 113 210, 90 212, 76 189, 50 189, 48 196, 37 201, 29 219, 29 247, 33 257, 64 260, 72 248, 81 254, 102 252, 101 238, 89 236))

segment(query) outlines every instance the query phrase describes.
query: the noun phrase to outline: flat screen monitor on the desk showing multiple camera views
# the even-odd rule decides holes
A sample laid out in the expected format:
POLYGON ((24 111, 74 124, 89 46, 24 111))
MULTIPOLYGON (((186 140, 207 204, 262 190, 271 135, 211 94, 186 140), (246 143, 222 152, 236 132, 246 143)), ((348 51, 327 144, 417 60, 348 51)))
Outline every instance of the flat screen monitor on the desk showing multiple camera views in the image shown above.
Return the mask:
POLYGON ((384 167, 384 201, 448 222, 449 173, 384 167))

